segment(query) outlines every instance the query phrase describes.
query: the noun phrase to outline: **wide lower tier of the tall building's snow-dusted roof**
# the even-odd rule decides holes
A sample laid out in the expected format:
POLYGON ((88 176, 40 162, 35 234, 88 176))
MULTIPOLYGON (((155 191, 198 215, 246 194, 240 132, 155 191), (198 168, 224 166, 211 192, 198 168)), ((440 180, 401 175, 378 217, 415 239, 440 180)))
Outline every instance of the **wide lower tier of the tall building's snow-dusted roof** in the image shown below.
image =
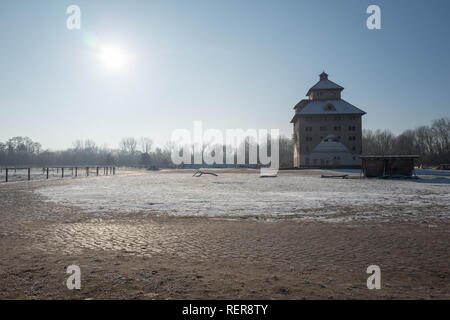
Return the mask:
POLYGON ((348 103, 343 99, 339 100, 309 100, 308 104, 297 111, 298 115, 307 114, 366 114, 361 109, 348 103))

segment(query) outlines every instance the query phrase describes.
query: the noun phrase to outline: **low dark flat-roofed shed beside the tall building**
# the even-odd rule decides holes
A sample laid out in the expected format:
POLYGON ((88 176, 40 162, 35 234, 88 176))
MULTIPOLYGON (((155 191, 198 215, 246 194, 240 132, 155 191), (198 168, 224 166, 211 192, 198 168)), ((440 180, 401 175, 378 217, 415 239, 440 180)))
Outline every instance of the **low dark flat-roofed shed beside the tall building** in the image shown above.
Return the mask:
POLYGON ((365 177, 411 177, 418 155, 361 156, 365 177))

